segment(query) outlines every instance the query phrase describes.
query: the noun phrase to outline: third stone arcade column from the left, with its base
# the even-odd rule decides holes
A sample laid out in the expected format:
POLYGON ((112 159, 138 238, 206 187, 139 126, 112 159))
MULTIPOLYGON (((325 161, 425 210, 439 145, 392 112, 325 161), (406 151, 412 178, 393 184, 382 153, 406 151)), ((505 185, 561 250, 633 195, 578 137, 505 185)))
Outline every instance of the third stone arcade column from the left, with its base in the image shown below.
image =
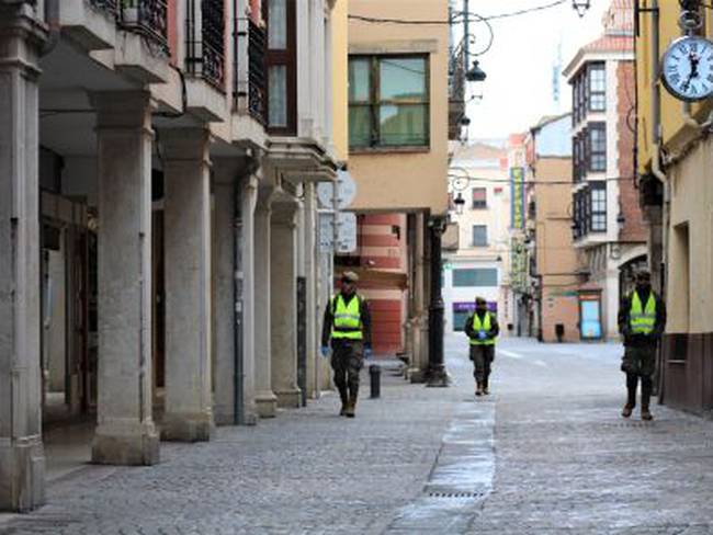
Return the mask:
POLYGON ((211 374, 210 133, 161 133, 165 150, 166 414, 161 436, 208 441, 211 374))

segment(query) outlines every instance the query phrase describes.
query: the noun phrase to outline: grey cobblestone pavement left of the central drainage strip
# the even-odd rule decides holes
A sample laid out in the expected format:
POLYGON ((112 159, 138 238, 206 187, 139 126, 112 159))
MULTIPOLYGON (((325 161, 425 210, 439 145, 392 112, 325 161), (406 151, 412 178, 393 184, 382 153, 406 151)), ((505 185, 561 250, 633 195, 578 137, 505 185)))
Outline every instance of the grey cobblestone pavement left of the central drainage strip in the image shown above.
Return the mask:
POLYGON ((87 466, 53 482, 39 511, 0 515, 0 534, 380 534, 422 491, 467 399, 469 363, 451 373, 461 386, 384 372, 370 400, 364 369, 353 420, 328 395, 210 443, 162 443, 158 466, 87 466))

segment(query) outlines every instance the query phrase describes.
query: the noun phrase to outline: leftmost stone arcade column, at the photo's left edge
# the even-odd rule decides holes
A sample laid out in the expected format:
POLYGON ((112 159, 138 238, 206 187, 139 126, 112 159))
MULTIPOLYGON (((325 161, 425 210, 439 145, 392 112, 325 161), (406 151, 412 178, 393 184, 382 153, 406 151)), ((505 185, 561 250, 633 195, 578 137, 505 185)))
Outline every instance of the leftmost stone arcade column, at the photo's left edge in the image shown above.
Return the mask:
POLYGON ((45 501, 37 170, 45 37, 27 3, 0 3, 0 511, 45 501))

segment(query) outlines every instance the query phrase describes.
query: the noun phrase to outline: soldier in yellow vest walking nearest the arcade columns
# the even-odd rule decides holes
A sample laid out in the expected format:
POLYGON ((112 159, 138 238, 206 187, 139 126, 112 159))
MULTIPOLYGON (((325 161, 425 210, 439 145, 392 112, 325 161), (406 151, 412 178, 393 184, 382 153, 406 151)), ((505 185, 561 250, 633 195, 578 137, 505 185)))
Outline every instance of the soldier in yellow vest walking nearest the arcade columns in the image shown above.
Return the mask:
POLYGON ((325 310, 321 330, 321 354, 329 354, 331 339, 331 367, 335 385, 341 398, 340 416, 354 418, 359 397, 359 373, 364 356, 371 356, 371 315, 362 296, 356 294, 359 277, 347 272, 341 277, 341 289, 325 310))

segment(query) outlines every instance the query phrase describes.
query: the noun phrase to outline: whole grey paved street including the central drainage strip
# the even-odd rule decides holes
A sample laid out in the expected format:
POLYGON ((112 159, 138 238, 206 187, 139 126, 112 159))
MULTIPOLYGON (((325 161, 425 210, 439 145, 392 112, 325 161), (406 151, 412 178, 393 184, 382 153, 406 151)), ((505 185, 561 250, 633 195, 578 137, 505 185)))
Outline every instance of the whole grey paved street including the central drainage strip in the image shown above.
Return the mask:
POLYGON ((713 533, 713 424, 655 406, 619 416, 619 345, 507 340, 475 401, 462 338, 453 387, 383 373, 353 421, 325 396, 146 468, 79 468, 16 534, 713 533))

